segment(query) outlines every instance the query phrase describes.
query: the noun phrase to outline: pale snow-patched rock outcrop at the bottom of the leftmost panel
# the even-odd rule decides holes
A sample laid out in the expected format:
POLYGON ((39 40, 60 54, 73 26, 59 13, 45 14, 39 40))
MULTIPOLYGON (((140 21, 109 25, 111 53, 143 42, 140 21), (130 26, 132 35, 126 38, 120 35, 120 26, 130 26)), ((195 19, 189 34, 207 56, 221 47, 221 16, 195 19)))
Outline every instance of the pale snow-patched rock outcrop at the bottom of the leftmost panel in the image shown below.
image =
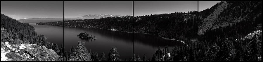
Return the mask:
POLYGON ((35 44, 2 43, 1 61, 58 61, 61 56, 52 49, 35 44))

